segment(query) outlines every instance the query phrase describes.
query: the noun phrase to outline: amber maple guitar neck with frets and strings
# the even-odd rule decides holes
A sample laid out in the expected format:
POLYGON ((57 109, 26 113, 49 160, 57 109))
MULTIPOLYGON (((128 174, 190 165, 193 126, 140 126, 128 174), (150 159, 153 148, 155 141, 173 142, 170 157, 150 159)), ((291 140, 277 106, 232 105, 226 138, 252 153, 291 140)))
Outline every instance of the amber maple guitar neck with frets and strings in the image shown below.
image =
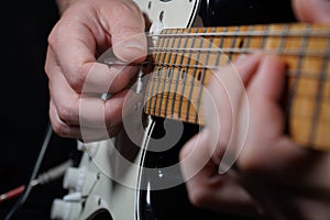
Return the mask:
POLYGON ((330 25, 166 29, 153 37, 145 113, 205 124, 204 87, 212 70, 263 51, 287 63, 289 134, 300 145, 330 150, 330 25))

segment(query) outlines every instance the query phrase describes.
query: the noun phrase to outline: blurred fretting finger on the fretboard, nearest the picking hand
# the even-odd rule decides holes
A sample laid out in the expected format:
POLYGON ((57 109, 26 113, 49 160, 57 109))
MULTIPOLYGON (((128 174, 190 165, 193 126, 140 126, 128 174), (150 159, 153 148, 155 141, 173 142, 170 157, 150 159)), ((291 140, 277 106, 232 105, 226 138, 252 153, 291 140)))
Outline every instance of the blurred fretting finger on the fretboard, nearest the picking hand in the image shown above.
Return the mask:
MULTIPOLYGON (((238 156, 237 133, 243 130, 237 125, 241 113, 240 106, 245 99, 245 84, 256 70, 261 56, 261 54, 243 56, 232 65, 218 69, 208 85, 206 125, 212 132, 211 138, 218 143, 213 160, 218 164, 221 163, 223 172, 233 165, 238 156)), ((246 128, 248 124, 244 125, 246 128)))

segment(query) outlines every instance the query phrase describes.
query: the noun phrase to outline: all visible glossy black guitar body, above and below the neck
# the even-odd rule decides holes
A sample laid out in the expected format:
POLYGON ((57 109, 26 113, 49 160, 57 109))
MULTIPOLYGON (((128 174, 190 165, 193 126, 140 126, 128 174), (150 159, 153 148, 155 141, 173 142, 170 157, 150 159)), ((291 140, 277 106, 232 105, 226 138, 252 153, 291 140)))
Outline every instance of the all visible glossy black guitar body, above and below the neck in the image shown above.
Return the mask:
MULTIPOLYGON (((199 15, 205 26, 226 26, 226 25, 243 25, 243 24, 263 24, 294 22, 295 18, 292 12, 289 0, 208 0, 202 1, 199 15)), ((170 123, 176 128, 173 120, 154 118, 155 127, 150 134, 157 139, 165 135, 164 122, 170 123)), ((185 184, 174 187, 158 189, 160 184, 170 183, 182 179, 179 168, 173 173, 162 173, 163 168, 178 164, 178 153, 182 146, 200 131, 199 125, 184 123, 183 135, 179 141, 166 151, 148 151, 144 152, 144 160, 141 162, 140 187, 138 200, 139 207, 136 217, 141 220, 212 220, 212 219, 249 219, 245 217, 233 217, 224 213, 215 213, 208 210, 201 210, 194 207, 187 197, 185 184), (144 168, 158 168, 160 174, 151 174, 144 168)), ((147 148, 160 148, 154 142, 148 144, 147 148)))

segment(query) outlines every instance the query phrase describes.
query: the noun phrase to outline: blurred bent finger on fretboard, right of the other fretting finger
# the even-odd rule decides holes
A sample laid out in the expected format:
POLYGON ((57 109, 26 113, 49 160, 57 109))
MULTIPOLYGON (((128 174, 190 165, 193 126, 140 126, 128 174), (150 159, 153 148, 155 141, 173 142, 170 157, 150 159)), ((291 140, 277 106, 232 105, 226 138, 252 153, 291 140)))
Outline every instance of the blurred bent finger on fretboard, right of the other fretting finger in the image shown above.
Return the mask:
POLYGON ((246 170, 288 170, 304 152, 284 134, 282 98, 285 63, 266 56, 248 87, 250 105, 249 134, 241 154, 240 167, 246 170))

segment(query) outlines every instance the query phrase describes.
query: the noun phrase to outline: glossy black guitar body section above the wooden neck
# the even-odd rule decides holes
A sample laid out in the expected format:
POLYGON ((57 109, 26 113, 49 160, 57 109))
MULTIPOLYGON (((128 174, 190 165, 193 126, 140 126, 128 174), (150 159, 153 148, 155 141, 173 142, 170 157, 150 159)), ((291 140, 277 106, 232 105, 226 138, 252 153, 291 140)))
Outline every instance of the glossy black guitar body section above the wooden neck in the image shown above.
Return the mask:
POLYGON ((201 0, 205 26, 265 24, 295 21, 290 0, 201 0))

